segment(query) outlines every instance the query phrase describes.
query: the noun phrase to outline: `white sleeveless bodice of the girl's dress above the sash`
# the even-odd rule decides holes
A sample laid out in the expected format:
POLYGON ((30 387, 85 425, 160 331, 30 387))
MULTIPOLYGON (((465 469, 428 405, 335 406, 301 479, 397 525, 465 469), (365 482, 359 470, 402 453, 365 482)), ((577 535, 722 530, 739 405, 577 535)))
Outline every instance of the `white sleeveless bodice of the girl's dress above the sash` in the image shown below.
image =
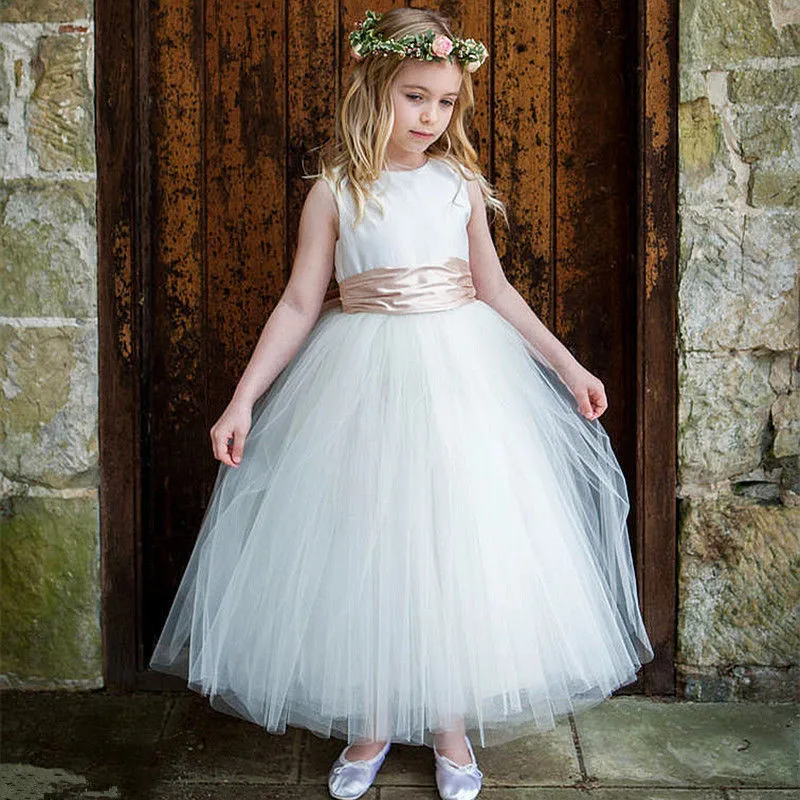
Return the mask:
POLYGON ((334 254, 337 282, 378 267, 415 267, 469 261, 467 183, 458 172, 430 158, 414 170, 384 170, 353 227, 356 204, 345 179, 336 194, 339 238, 334 254))

